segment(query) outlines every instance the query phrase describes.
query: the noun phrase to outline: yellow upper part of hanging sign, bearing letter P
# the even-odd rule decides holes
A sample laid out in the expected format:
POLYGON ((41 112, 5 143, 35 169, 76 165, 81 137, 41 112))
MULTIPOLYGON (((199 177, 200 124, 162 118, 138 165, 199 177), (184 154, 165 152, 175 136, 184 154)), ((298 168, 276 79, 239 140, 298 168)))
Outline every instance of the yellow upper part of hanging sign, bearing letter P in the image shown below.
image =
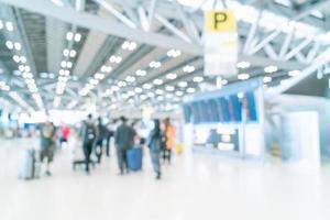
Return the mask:
POLYGON ((205 12, 207 32, 237 32, 237 20, 232 10, 210 10, 205 12))

